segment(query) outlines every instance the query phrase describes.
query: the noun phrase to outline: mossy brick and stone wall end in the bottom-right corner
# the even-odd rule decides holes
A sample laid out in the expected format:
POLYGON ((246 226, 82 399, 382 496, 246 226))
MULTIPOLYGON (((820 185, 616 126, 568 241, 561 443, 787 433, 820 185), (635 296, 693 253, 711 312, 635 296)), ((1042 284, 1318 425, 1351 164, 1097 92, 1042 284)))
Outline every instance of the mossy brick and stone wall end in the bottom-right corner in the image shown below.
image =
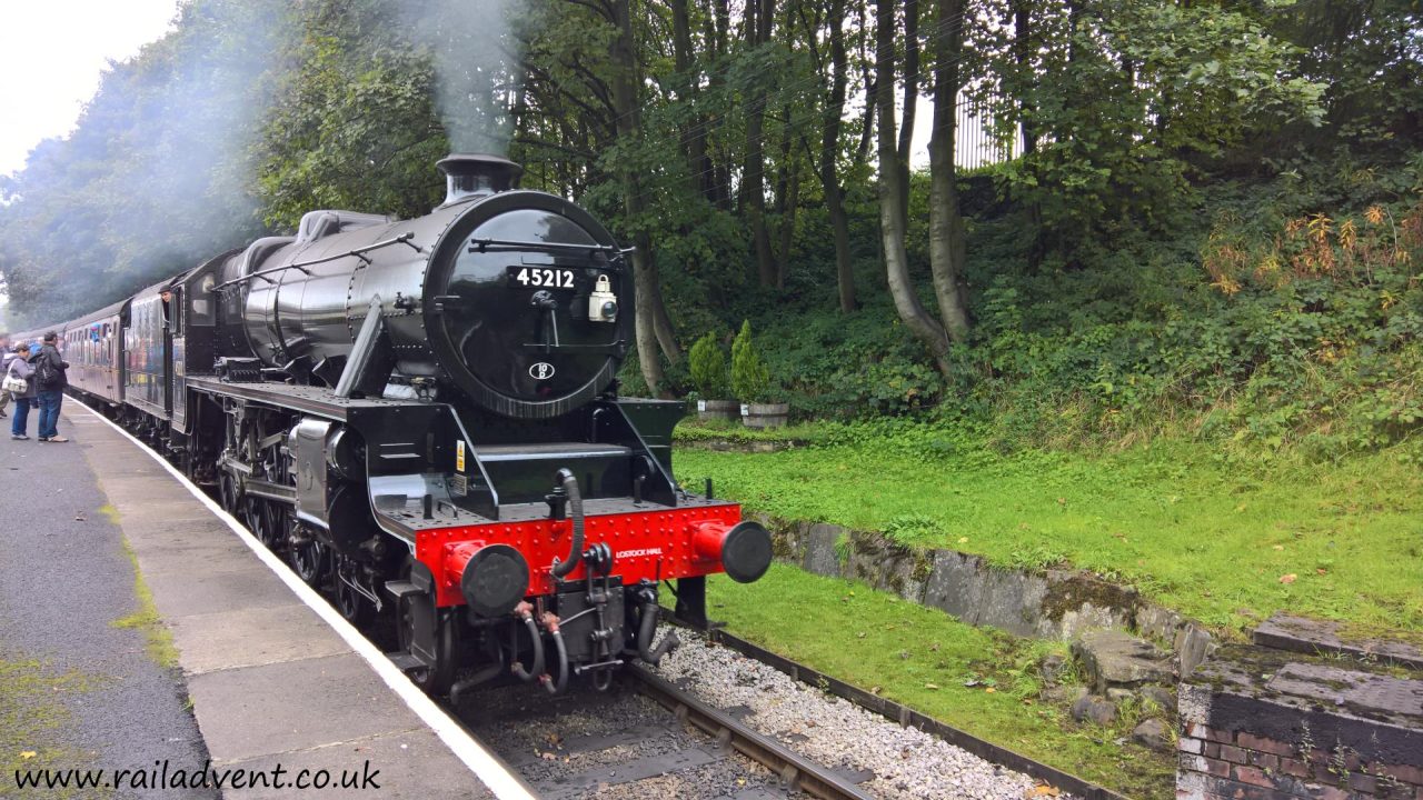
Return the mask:
POLYGON ((1180 800, 1423 800, 1423 680, 1232 645, 1180 686, 1180 800))

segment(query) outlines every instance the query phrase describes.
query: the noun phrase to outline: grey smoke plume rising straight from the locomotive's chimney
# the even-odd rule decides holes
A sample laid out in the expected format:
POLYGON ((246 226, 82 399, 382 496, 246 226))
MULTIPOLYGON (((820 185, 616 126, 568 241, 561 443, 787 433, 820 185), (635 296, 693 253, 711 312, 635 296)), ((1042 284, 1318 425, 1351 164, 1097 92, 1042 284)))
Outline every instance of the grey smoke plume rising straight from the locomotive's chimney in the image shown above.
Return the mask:
POLYGON ((455 152, 508 155, 522 70, 519 0, 427 0, 411 28, 431 51, 435 107, 455 152))

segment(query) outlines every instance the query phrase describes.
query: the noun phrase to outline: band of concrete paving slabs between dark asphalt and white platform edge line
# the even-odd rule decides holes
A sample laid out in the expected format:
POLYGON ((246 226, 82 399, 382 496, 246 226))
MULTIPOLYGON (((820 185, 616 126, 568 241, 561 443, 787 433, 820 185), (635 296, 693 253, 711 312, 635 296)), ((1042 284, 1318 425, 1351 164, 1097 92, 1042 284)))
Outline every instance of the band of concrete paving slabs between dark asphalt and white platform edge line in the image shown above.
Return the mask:
MULTIPOLYGON (((107 498, 104 508, 77 507, 74 515, 122 528, 174 635, 186 695, 216 769, 282 764, 287 777, 326 769, 339 779, 343 769, 360 777, 369 759, 384 779, 374 793, 383 797, 491 796, 400 693, 171 473, 85 411, 70 410, 65 420, 75 421, 68 430, 77 447, 70 451, 83 453, 107 498)), ((7 465, 21 474, 46 467, 18 458, 7 465)), ((68 514, 61 511, 65 520, 68 514)), ((83 535, 87 524, 63 525, 53 549, 83 558, 90 547, 83 535)), ((430 719, 430 725, 440 723, 430 719)), ((462 757, 475 757, 472 743, 460 747, 462 757)), ((351 793, 299 790, 302 796, 333 791, 351 793)), ((290 797, 293 789, 223 796, 290 797)))

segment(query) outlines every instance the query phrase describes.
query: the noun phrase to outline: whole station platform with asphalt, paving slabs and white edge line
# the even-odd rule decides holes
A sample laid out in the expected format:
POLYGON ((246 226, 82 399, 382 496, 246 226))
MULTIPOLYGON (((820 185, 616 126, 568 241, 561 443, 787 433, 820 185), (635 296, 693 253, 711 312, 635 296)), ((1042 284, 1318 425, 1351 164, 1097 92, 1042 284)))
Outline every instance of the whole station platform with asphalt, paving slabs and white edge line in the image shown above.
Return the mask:
POLYGON ((60 430, 0 440, 6 773, 148 770, 108 797, 532 796, 169 465, 73 399, 60 430), (195 770, 228 786, 172 786, 195 770))

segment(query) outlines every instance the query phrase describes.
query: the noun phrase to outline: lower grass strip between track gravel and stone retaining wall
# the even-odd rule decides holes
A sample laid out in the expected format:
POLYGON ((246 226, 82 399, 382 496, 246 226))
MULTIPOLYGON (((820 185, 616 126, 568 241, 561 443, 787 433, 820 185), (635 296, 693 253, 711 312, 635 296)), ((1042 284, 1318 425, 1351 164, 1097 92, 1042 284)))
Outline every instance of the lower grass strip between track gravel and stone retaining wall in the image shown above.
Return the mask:
POLYGON ((707 592, 712 618, 767 649, 1131 797, 1173 793, 1173 756, 1117 743, 1130 736, 1134 710, 1110 729, 1079 726, 1066 707, 1037 699, 1036 665, 1064 653, 1060 642, 973 628, 783 564, 756 584, 719 575, 707 592))

